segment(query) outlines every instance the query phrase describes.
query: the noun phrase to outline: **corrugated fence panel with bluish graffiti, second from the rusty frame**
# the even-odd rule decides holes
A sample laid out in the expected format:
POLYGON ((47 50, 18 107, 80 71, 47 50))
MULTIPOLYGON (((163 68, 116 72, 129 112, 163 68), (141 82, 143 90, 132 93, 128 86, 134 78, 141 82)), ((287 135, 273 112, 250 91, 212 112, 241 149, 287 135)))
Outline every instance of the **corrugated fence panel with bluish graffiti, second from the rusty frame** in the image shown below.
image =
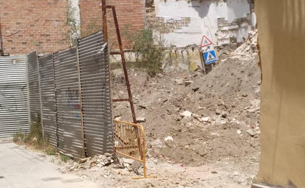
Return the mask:
POLYGON ((62 127, 65 153, 80 157, 83 153, 82 122, 76 47, 59 52, 62 127))

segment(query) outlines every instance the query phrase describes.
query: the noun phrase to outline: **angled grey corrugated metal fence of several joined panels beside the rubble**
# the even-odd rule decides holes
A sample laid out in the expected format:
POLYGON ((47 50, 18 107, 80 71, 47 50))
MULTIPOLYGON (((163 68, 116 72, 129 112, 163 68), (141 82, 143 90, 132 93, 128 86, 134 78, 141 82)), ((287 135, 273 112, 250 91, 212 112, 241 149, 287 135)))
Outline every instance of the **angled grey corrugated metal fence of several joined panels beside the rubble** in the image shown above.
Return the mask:
POLYGON ((36 52, 28 55, 30 108, 33 121, 42 111, 44 137, 75 158, 112 153, 109 59, 103 33, 37 61, 36 52))

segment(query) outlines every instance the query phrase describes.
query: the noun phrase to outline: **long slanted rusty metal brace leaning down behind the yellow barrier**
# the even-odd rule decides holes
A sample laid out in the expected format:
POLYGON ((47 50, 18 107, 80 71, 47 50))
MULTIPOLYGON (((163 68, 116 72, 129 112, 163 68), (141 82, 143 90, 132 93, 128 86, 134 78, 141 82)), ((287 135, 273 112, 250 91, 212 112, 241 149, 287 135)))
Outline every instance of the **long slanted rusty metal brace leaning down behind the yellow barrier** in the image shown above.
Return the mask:
MULTIPOLYGON (((121 55, 121 58, 122 58, 122 64, 123 64, 123 69, 124 69, 126 86, 127 86, 128 96, 129 96, 129 99, 130 99, 129 102, 130 102, 130 105, 131 105, 132 120, 133 120, 133 123, 136 124, 136 117, 135 117, 135 111, 134 111, 134 106, 133 106, 131 87, 130 87, 128 71, 127 71, 127 67, 126 67, 125 55, 124 55, 124 52, 123 52, 123 43, 122 43, 122 39, 121 39, 119 23, 118 23, 117 16, 116 16, 115 6, 107 5, 106 8, 112 9, 113 20, 114 20, 114 24, 115 24, 115 30, 116 30, 116 34, 117 34, 117 38, 118 38, 118 42, 119 42, 120 55, 121 55)), ((137 129, 136 129, 136 134, 137 134, 138 146, 140 146, 141 145, 141 140, 139 139, 139 131, 137 129)), ((142 159, 145 158, 145 154, 143 155, 141 147, 139 147, 139 152, 141 154, 141 158, 142 159)))

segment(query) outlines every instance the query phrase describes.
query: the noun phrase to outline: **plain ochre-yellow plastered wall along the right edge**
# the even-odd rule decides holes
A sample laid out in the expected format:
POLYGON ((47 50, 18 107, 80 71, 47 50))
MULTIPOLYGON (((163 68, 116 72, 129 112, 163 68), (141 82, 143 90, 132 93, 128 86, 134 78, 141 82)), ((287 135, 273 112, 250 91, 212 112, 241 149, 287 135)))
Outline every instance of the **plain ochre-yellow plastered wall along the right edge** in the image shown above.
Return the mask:
POLYGON ((305 0, 255 0, 261 49, 259 182, 305 188, 305 0))

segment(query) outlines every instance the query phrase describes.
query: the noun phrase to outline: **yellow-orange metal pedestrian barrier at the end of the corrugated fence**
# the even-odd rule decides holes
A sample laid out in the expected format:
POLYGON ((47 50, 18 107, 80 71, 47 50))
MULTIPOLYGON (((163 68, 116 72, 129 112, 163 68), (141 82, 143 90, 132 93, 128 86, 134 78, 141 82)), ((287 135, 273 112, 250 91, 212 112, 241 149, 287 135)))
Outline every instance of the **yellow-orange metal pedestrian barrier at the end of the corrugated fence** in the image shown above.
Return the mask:
POLYGON ((114 120, 113 138, 117 154, 143 163, 143 177, 133 177, 132 179, 156 177, 146 175, 145 132, 142 125, 114 120))

